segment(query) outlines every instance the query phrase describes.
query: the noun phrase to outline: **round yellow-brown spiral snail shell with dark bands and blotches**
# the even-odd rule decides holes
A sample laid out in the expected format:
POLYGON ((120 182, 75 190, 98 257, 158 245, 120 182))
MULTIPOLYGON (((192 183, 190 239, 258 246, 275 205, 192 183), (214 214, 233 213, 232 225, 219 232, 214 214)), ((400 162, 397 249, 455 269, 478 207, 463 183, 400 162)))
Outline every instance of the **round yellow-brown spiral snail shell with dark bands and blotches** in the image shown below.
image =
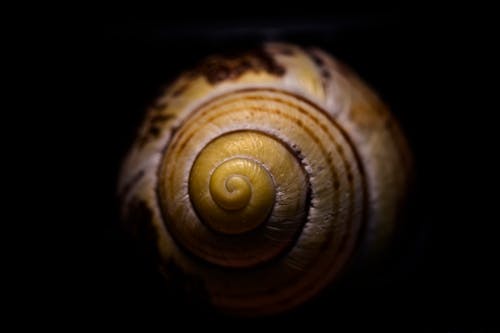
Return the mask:
POLYGON ((410 164, 355 74, 319 49, 270 43, 208 58, 168 87, 119 194, 167 281, 182 272, 215 308, 262 315, 318 294, 355 250, 383 247, 410 164))

